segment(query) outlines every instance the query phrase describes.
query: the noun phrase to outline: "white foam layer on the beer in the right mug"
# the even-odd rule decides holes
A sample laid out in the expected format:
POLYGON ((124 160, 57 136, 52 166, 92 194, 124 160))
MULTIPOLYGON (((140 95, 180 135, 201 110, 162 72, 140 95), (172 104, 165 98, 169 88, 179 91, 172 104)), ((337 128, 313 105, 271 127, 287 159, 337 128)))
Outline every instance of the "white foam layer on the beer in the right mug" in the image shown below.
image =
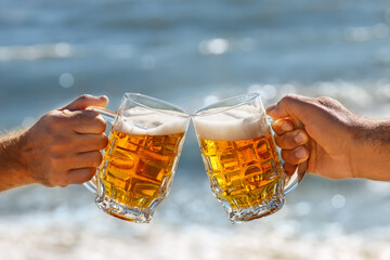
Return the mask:
POLYGON ((196 134, 206 140, 246 140, 269 133, 265 114, 258 107, 211 108, 193 117, 196 134), (218 113, 220 112, 220 113, 218 113))

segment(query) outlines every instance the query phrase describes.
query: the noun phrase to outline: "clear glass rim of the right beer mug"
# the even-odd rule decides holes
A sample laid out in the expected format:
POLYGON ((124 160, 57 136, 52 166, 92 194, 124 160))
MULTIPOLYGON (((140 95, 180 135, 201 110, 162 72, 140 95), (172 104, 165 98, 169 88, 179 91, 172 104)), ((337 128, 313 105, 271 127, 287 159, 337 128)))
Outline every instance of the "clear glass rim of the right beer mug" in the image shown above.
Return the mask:
MULTIPOLYGON (((226 110, 230 110, 230 109, 233 109, 235 107, 238 107, 238 106, 242 106, 242 105, 245 105, 246 103, 248 103, 249 101, 253 101, 255 99, 257 98, 260 98, 260 94, 259 93, 248 93, 248 94, 242 94, 242 95, 236 95, 236 96, 232 96, 232 98, 227 98, 227 99, 224 99, 224 100, 221 100, 221 101, 218 101, 211 105, 207 105, 207 106, 204 106, 199 109, 197 109, 192 116, 194 117, 202 117, 202 116, 209 116, 209 115, 213 115, 213 114, 219 114, 219 113, 223 113, 223 112, 226 112, 226 110), (232 105, 232 106, 229 106, 229 107, 224 107, 222 109, 219 109, 219 110, 214 110, 214 112, 207 112, 208 109, 211 109, 211 108, 214 108, 216 106, 222 104, 222 103, 226 103, 226 102, 230 102, 230 101, 233 101, 233 100, 239 100, 242 99, 240 102, 238 102, 237 104, 235 105, 232 105), (204 112, 204 113, 203 113, 204 112), (199 114, 202 113, 202 114, 199 114)), ((261 100, 260 100, 261 102, 261 100)))

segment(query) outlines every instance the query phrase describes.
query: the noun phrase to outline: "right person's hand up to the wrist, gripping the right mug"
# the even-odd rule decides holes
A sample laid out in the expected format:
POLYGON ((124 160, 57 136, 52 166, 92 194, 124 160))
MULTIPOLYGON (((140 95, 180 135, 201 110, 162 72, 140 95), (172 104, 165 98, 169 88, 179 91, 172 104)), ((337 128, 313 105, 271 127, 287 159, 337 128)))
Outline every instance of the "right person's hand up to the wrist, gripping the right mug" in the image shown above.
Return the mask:
POLYGON ((360 177, 355 140, 363 120, 330 98, 287 95, 266 108, 286 168, 309 158, 308 171, 330 179, 360 177))

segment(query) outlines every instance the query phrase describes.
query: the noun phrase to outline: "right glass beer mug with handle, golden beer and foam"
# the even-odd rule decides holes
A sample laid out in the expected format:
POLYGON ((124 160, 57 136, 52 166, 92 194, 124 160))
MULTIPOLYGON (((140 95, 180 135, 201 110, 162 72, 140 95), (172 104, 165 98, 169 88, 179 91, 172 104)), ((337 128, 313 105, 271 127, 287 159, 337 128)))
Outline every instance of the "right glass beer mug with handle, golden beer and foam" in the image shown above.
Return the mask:
POLYGON ((307 166, 287 176, 259 94, 235 96, 192 117, 211 190, 233 222, 280 210, 307 166))

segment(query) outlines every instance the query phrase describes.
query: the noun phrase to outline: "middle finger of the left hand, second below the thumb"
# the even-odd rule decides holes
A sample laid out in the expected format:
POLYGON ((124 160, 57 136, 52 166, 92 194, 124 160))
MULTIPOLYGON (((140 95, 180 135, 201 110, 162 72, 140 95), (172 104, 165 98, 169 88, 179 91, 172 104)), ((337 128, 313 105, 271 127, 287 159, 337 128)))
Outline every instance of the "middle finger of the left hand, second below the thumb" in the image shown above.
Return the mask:
POLYGON ((78 134, 77 135, 77 152, 87 153, 103 150, 108 144, 107 135, 103 134, 78 134))

